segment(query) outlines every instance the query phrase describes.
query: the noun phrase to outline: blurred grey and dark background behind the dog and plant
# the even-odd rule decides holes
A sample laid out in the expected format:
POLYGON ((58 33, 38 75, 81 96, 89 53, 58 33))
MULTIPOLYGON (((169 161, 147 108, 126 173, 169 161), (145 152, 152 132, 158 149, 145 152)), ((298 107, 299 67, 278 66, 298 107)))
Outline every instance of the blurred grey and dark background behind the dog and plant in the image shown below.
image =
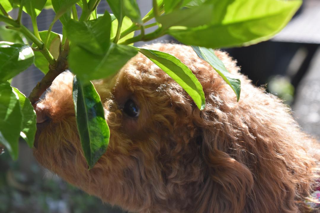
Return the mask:
MULTIPOLYGON (((137 0, 141 14, 145 15, 152 1, 137 0)), ((79 8, 78 8, 79 9, 79 8)), ((98 13, 110 11, 101 1, 98 13)), ((12 11, 13 17, 18 11, 12 11)), ((80 11, 79 11, 80 12, 80 11)), ((39 31, 47 30, 53 20, 52 9, 37 17, 39 31)), ((150 21, 152 22, 152 20, 150 21)), ((32 29, 28 15, 22 23, 32 29)), ((273 39, 256 45, 225 49, 238 62, 241 72, 252 83, 267 88, 288 104, 301 128, 320 139, 320 0, 304 0, 291 22, 273 39)), ((4 27, 4 26, 0 26, 4 27)), ((60 22, 52 31, 61 32, 60 22)), ((147 32, 154 28, 147 29, 147 32)), ((6 39, 0 34, 0 41, 6 39)), ((18 40, 21 38, 17 38, 18 40)), ((153 42, 176 42, 170 36, 153 42)), ((144 42, 137 42, 141 46, 144 42)), ((12 80, 12 86, 29 94, 44 74, 33 65, 12 80)), ((121 213, 100 199, 61 180, 41 167, 24 141, 20 142, 19 160, 13 162, 8 153, 0 156, 0 213, 121 213)))

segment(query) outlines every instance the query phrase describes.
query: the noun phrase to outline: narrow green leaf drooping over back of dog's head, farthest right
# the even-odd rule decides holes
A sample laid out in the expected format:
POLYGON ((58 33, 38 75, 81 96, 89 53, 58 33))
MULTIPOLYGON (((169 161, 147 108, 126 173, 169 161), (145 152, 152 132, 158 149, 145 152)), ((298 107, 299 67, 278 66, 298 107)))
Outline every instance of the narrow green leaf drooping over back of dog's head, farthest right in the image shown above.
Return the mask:
POLYGON ((213 49, 207 49, 204 47, 196 47, 192 46, 193 50, 195 50, 196 54, 206 62, 208 62, 215 71, 227 82, 227 84, 233 89, 236 93, 237 101, 240 98, 241 91, 241 82, 240 79, 236 76, 228 72, 222 61, 214 54, 213 49))

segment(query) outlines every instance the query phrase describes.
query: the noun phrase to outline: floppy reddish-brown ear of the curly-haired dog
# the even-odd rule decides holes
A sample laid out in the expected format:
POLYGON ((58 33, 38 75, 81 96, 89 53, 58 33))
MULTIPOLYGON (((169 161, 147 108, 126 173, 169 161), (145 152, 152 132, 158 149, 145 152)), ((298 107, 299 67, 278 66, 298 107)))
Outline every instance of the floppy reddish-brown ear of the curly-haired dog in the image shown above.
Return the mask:
POLYGON ((243 212, 247 194, 253 186, 251 171, 222 151, 230 141, 218 129, 203 130, 197 138, 204 162, 204 182, 197 194, 194 212, 243 212), (222 145, 224 146, 224 145, 222 145), (208 205, 209 203, 209 205, 208 205))

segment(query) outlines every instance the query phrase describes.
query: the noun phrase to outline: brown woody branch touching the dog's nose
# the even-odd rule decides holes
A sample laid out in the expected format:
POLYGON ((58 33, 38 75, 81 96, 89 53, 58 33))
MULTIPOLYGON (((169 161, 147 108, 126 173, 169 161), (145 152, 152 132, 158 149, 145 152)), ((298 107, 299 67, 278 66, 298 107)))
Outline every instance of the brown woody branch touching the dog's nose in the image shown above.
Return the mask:
POLYGON ((58 75, 60 75, 61 72, 64 72, 66 69, 68 69, 68 52, 69 42, 66 40, 64 48, 57 59, 57 63, 55 65, 49 65, 49 71, 47 74, 40 82, 37 83, 36 87, 33 88, 32 92, 30 93, 28 99, 30 100, 31 104, 35 104, 40 99, 40 96, 44 93, 44 91, 51 86, 52 81, 58 75))

